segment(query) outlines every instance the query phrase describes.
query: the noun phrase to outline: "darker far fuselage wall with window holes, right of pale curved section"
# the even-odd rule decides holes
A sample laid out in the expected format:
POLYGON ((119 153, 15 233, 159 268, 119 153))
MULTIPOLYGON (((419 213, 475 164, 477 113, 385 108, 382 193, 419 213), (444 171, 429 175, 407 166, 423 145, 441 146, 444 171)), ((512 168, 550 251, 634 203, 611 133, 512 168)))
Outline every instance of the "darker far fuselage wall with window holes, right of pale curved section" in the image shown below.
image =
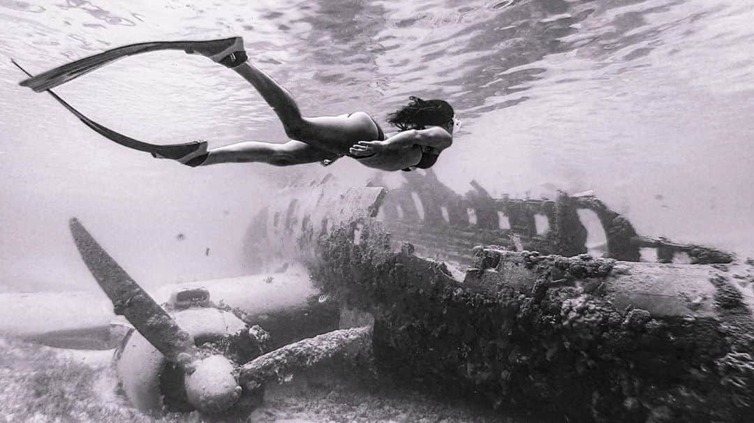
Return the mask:
MULTIPOLYGON (((372 183, 379 183, 379 179, 372 183)), ((673 262, 679 253, 688 254, 692 263, 725 263, 733 259, 730 253, 710 247, 641 237, 625 216, 591 195, 561 193, 555 200, 492 198, 479 182, 471 181, 470 185, 473 189, 460 195, 440 182, 431 170, 424 175, 406 174, 403 185, 391 189, 382 205, 383 220, 394 234, 394 243, 411 242, 432 257, 442 257, 445 249, 459 240, 575 256, 587 252, 587 230, 578 216, 578 210, 586 209, 596 214, 605 231, 606 257, 638 262, 639 250, 648 247, 657 250, 659 262, 673 262), (421 213, 417 204, 421 204, 421 213), (538 233, 538 215, 547 219, 549 228, 544 233, 538 233), (502 227, 502 219, 507 220, 509 228, 502 227), (444 237, 442 242, 438 236, 444 237)), ((452 261, 468 265, 472 259, 465 253, 452 261)))

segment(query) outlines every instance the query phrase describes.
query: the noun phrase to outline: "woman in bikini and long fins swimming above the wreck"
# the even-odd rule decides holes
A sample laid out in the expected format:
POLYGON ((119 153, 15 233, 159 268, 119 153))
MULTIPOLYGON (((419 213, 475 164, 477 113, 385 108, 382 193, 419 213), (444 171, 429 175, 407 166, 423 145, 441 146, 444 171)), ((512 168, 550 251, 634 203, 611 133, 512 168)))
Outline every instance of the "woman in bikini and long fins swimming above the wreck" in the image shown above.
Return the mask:
POLYGON ((192 167, 247 162, 261 162, 275 166, 313 162, 330 164, 338 158, 348 156, 360 164, 380 170, 428 168, 434 165, 443 150, 452 145, 452 133, 457 122, 452 107, 445 101, 421 100, 418 97, 410 97, 410 103, 407 106, 389 116, 388 122, 394 124, 399 131, 388 135, 385 135, 379 124, 365 112, 305 117, 284 87, 247 61, 244 41, 241 37, 213 41, 162 41, 131 44, 60 66, 22 81, 21 84, 38 92, 48 90, 56 97, 56 100, 74 112, 85 124, 117 143, 152 152, 152 155, 157 158, 171 158, 192 167), (206 141, 195 141, 179 145, 180 150, 166 150, 165 148, 170 146, 140 143, 101 127, 75 111, 50 91, 52 87, 91 72, 107 63, 112 63, 121 57, 158 50, 182 50, 188 54, 200 54, 241 75, 271 106, 291 140, 287 143, 247 141, 216 149, 208 149, 206 141), (136 144, 121 142, 109 133, 115 133, 136 144), (149 147, 155 147, 155 149, 149 149, 149 147))

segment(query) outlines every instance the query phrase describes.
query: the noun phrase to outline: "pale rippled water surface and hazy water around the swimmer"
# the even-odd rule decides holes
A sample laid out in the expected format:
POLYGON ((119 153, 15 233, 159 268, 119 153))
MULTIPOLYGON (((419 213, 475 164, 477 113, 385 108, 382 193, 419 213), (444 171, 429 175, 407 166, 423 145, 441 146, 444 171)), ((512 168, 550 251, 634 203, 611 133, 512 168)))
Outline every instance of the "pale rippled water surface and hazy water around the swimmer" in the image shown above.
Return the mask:
MULTIPOLYGON (((737 0, 0 0, 0 53, 42 72, 121 44, 243 35, 308 115, 364 110, 384 123, 409 95, 449 100, 464 125, 437 173, 454 189, 594 189, 641 234, 752 255, 752 22, 754 4, 737 0)), ((18 87, 3 63, 0 285, 89 284, 73 215, 137 279, 238 274, 272 180, 323 171, 155 161, 18 87)), ((140 139, 285 140, 238 75, 177 52, 121 60, 59 93, 140 139)), ((347 160, 329 170, 368 175, 347 160)))

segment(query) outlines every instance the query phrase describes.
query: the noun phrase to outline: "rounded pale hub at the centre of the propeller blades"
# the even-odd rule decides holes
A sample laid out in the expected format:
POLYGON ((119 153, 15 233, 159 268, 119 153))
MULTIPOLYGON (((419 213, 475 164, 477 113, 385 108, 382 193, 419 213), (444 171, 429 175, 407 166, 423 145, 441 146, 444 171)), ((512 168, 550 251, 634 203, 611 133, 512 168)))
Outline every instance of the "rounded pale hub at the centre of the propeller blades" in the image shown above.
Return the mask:
POLYGON ((222 355, 197 360, 190 374, 185 376, 189 403, 202 412, 223 412, 234 406, 241 397, 236 372, 230 360, 222 355))

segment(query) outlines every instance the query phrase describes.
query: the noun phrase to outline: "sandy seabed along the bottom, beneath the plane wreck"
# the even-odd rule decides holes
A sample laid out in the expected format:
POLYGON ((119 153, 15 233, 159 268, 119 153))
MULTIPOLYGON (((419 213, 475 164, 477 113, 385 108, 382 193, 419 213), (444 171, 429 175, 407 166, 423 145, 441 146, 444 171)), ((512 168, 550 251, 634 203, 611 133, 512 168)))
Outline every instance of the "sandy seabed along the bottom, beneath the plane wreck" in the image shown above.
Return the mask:
MULTIPOLYGON (((198 413, 144 415, 115 394, 112 351, 49 348, 0 338, 0 423, 198 423, 198 413)), ((268 389, 265 403, 244 421, 519 423, 489 410, 414 391, 367 391, 348 381, 299 382, 268 389)))

